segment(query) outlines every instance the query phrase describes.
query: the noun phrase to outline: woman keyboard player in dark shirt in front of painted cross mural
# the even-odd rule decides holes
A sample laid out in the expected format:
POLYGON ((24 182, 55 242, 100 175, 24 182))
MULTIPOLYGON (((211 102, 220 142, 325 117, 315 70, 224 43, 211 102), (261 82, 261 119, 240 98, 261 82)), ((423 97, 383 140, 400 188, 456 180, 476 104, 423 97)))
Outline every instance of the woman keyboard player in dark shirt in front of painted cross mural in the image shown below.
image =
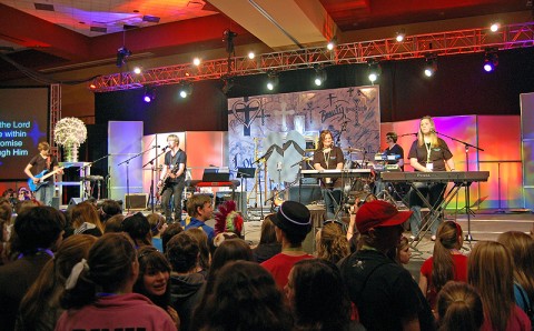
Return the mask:
MULTIPOLYGON (((340 148, 334 146, 332 132, 328 130, 320 131, 319 143, 314 153, 314 169, 337 169, 342 170, 345 158, 340 148)), ((323 178, 320 180, 320 189, 325 199, 326 218, 334 219, 336 209, 342 200, 342 178, 323 178)))

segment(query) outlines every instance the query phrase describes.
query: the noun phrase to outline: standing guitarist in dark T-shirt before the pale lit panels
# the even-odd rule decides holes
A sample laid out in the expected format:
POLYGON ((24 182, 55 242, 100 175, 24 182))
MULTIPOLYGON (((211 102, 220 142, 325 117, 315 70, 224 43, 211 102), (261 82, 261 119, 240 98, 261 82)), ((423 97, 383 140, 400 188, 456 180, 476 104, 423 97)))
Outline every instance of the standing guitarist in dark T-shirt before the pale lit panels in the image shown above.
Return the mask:
POLYGON ((170 197, 172 197, 175 208, 175 221, 181 221, 181 195, 186 184, 187 156, 179 148, 179 143, 178 136, 169 134, 167 137, 169 151, 165 153, 165 162, 158 181, 158 188, 160 188, 161 192, 161 211, 167 222, 172 222, 172 210, 169 205, 170 197))

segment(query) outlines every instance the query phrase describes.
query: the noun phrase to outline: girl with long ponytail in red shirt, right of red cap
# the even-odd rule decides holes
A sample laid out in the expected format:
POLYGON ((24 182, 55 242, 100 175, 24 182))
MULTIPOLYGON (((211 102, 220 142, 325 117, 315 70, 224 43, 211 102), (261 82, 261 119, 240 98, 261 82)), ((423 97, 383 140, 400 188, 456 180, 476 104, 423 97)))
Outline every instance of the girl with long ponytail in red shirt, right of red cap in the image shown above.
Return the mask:
POLYGON ((467 282, 467 257, 459 252, 462 234, 458 223, 442 223, 437 229, 434 253, 421 267, 419 289, 432 309, 436 307, 437 293, 448 281, 467 282))

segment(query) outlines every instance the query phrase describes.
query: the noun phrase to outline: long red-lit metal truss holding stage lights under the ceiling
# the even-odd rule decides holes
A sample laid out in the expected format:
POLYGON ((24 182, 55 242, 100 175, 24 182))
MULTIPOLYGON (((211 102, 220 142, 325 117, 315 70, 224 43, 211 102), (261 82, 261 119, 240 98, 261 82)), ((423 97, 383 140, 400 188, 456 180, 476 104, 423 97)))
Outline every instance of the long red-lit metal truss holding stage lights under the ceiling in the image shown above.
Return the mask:
POLYGON ((249 59, 233 57, 192 63, 154 68, 137 74, 134 72, 101 76, 92 81, 95 92, 138 89, 146 86, 176 84, 184 81, 225 79, 228 77, 267 73, 335 66, 396 61, 484 52, 490 49, 507 50, 534 46, 534 22, 503 26, 496 32, 488 28, 456 30, 427 34, 408 36, 398 42, 394 38, 359 41, 336 46, 332 51, 326 47, 264 53, 249 59))

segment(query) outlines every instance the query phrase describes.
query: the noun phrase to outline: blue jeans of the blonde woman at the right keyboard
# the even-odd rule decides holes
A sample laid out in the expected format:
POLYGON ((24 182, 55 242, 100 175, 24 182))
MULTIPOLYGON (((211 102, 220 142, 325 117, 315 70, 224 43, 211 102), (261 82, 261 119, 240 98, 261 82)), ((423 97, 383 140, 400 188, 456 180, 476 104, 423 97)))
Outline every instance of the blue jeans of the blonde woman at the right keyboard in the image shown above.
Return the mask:
MULTIPOLYGON (((416 182, 414 185, 419 190, 419 192, 428 200, 432 207, 437 208, 439 203, 443 201, 443 193, 446 184, 444 183, 426 183, 426 182, 416 182)), ((421 217, 421 208, 423 207, 423 201, 421 197, 412 190, 408 192, 409 194, 409 210, 414 213, 409 217, 409 228, 412 230, 413 235, 417 235, 419 233, 421 223, 423 221, 421 217)), ((426 205, 424 205, 426 207, 426 205)), ((442 210, 437 210, 437 212, 442 212, 442 210)), ((432 224, 431 224, 431 233, 433 235, 436 234, 437 228, 439 223, 443 222, 442 217, 439 215, 432 224)))

